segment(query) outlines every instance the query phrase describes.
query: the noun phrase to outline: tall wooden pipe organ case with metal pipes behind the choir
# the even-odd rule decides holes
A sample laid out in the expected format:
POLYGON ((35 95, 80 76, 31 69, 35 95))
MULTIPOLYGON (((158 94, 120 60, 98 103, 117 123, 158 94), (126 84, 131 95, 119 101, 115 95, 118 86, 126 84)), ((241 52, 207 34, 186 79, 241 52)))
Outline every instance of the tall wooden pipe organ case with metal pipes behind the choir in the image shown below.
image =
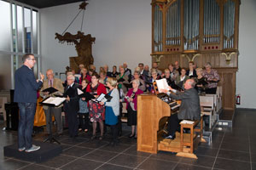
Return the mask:
POLYGON ((223 87, 223 108, 235 110, 240 0, 152 0, 152 62, 210 62, 223 87))

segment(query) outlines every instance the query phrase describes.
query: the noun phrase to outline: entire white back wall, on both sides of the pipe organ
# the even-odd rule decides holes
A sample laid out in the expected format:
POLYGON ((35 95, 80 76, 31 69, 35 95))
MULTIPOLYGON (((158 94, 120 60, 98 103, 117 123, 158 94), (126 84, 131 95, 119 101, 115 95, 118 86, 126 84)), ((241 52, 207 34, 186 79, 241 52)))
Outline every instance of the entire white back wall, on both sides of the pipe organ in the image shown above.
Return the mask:
MULTIPOLYGON (((84 29, 96 37, 93 45, 95 65, 120 65, 130 68, 143 62, 151 65, 151 0, 91 0, 85 11, 84 29)), ((65 71, 68 57, 76 56, 73 46, 57 42, 55 32, 62 33, 78 13, 79 3, 41 10, 42 68, 65 71)), ((255 40, 256 1, 241 0, 239 26, 239 71, 236 75, 236 94, 241 94, 242 108, 256 108, 255 40)), ((68 30, 76 33, 81 16, 68 30)))

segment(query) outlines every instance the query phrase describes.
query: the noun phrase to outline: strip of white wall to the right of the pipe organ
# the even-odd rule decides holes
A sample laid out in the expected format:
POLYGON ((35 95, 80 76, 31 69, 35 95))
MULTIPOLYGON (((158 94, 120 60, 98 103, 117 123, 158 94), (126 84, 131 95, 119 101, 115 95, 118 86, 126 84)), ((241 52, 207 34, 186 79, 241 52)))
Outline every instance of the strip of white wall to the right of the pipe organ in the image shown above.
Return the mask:
POLYGON ((238 72, 236 94, 241 94, 241 108, 256 109, 256 1, 241 0, 239 20, 238 72))

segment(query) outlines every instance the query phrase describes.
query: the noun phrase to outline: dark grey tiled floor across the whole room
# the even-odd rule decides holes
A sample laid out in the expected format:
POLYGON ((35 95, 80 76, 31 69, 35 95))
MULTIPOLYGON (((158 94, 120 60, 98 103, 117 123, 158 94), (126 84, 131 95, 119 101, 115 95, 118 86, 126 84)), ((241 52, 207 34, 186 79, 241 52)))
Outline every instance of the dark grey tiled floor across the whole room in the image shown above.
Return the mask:
MULTIPOLYGON (((256 169, 256 111, 236 111, 233 127, 216 128, 212 144, 201 144, 195 154, 198 160, 177 157, 160 151, 158 154, 137 152, 137 142, 126 132, 116 147, 108 146, 109 137, 102 141, 90 141, 89 134, 79 134, 73 141, 63 135, 59 140, 63 147, 60 156, 41 163, 20 161, 3 156, 3 146, 17 141, 15 132, 0 132, 0 170, 5 169, 256 169)), ((3 127, 3 125, 0 127, 3 127)), ((42 140, 42 134, 34 139, 42 140)))

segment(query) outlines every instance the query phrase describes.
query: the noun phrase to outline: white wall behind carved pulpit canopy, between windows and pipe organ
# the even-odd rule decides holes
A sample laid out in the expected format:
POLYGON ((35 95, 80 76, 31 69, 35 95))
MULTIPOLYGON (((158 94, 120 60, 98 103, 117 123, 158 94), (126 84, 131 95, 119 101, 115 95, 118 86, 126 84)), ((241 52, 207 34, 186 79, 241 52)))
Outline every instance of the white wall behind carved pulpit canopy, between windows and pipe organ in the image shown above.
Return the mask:
MULTIPOLYGON (((93 0, 84 14, 83 31, 96 37, 93 56, 101 65, 128 63, 132 70, 139 62, 151 65, 151 0, 93 0)), ((41 10, 42 69, 65 71, 68 57, 77 56, 74 46, 59 43, 55 32, 62 33, 79 12, 80 3, 71 3, 41 10)), ((82 14, 67 30, 80 30, 82 14)))

